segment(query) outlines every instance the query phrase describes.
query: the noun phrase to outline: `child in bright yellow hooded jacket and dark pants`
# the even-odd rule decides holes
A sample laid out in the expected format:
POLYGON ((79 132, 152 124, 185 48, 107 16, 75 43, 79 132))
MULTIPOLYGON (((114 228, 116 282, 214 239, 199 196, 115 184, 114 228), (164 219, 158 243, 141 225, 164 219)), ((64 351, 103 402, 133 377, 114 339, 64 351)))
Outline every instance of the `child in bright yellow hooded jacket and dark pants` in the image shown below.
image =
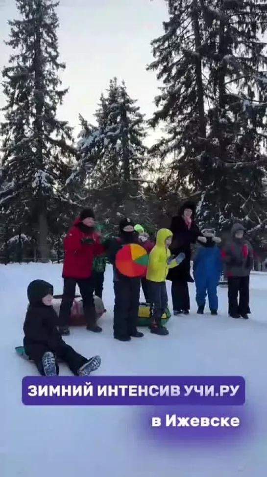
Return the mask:
POLYGON ((150 332, 156 335, 166 336, 169 331, 161 324, 161 317, 168 306, 168 294, 166 277, 170 268, 179 265, 185 258, 181 253, 177 257, 170 254, 172 232, 168 229, 160 229, 157 233, 156 245, 149 254, 146 271, 146 280, 149 294, 149 302, 153 305, 150 332))

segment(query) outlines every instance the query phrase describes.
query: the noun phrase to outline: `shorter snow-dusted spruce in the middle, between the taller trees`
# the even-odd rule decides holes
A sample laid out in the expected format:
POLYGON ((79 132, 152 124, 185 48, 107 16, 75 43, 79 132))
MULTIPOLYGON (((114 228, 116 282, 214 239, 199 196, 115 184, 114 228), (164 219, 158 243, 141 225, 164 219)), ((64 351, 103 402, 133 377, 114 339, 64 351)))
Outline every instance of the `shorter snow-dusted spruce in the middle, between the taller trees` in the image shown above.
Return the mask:
POLYGON ((120 206, 131 213, 148 167, 144 115, 125 84, 114 78, 95 117, 96 127, 82 124, 78 147, 83 173, 87 164, 90 190, 102 211, 109 213, 112 204, 114 210, 120 206))

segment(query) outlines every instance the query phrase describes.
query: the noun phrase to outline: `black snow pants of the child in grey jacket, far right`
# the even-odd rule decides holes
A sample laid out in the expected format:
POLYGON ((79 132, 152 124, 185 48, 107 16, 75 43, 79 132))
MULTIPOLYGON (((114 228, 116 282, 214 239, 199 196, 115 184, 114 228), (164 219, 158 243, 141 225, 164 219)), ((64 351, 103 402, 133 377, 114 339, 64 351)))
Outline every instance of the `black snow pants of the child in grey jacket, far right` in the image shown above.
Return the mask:
POLYGON ((231 317, 250 313, 249 276, 228 277, 228 313, 231 317))

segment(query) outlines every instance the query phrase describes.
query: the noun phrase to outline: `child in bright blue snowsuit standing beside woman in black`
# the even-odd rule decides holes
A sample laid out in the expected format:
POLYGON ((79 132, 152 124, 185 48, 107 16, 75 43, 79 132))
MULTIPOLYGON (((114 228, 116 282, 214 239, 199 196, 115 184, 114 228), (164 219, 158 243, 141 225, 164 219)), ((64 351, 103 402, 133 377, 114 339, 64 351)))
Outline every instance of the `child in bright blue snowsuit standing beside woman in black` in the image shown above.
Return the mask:
POLYGON ((201 230, 203 237, 198 242, 194 259, 193 272, 196 295, 195 300, 198 306, 198 315, 203 315, 206 296, 208 294, 211 315, 218 314, 217 287, 221 276, 223 263, 221 259, 218 243, 220 238, 215 236, 212 228, 205 227, 201 230))

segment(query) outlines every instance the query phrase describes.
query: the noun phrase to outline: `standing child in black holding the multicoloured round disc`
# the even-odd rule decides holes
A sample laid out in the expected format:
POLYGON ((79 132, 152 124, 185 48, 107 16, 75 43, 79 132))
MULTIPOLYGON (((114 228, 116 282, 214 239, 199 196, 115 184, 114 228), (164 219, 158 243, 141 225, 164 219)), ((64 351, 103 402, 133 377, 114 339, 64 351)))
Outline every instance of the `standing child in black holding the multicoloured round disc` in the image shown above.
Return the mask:
MULTIPOLYGON (((114 338, 119 341, 130 341, 131 337, 141 338, 143 333, 137 330, 141 278, 129 278, 117 270, 115 261, 118 251, 127 243, 139 243, 138 234, 134 231, 131 219, 121 220, 120 237, 108 241, 108 257, 113 265, 114 304, 114 338)), ((107 242, 106 242, 107 243, 107 242)), ((106 246, 106 245, 105 245, 106 246)))

